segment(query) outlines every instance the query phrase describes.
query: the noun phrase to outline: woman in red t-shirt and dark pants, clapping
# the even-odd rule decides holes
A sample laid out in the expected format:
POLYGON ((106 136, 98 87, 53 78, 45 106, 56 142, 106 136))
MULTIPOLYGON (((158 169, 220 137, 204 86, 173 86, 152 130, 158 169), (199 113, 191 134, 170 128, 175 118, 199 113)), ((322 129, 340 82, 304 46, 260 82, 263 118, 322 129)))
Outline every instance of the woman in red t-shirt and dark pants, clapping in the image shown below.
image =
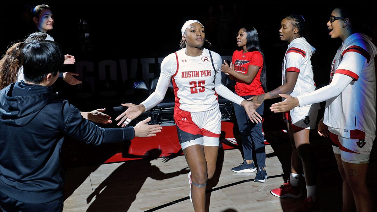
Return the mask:
MULTIPOLYGON (((236 94, 247 99, 254 95, 264 94, 266 91, 266 68, 264 55, 259 47, 258 32, 255 28, 241 28, 237 35, 237 46, 242 48, 233 53, 230 66, 225 62, 221 71, 229 75, 229 78, 236 80, 236 94)), ((256 109, 262 115, 264 103, 256 109)), ((257 174, 256 182, 265 182, 267 173, 265 171, 266 151, 264 147, 264 136, 262 134, 262 123, 251 123, 245 109, 234 104, 239 131, 242 134, 242 148, 244 150, 244 161, 237 167, 232 168, 233 172, 254 172, 257 174), (256 161, 253 161, 253 151, 256 161), (254 165, 255 162, 255 165, 254 165)))

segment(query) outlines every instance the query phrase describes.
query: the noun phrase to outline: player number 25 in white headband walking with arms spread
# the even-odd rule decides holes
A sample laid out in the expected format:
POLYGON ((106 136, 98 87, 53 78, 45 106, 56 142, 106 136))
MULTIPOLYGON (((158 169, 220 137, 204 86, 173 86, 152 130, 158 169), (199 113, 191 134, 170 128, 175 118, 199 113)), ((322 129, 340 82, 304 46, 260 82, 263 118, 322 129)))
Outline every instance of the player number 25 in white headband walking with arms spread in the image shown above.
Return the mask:
POLYGON ((252 121, 262 118, 254 110, 256 104, 244 100, 221 84, 221 57, 202 48, 204 26, 197 20, 185 22, 181 29, 181 50, 168 55, 161 63, 161 74, 155 92, 143 103, 122 104, 129 107, 116 120, 125 126, 164 98, 173 80, 175 92, 174 119, 179 143, 190 167, 190 197, 195 211, 205 210, 205 185, 215 173, 218 155, 221 114, 217 94, 241 104, 252 121), (192 194, 192 195, 191 195, 192 194))

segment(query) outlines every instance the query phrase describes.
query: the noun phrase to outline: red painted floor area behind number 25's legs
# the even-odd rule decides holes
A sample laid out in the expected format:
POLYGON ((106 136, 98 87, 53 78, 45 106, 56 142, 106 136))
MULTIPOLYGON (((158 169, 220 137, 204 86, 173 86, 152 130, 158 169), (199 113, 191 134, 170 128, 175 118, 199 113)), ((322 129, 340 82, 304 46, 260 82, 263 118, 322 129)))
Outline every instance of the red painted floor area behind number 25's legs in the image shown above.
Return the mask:
MULTIPOLYGON (((224 150, 238 147, 236 138, 233 135, 233 123, 230 121, 221 122, 220 142, 224 150)), ((238 129, 237 129, 238 130, 238 129)), ((267 141, 265 141, 266 144, 267 141)), ((155 137, 135 138, 131 141, 129 155, 127 158, 122 157, 124 153, 116 153, 105 163, 114 163, 119 161, 137 160, 143 157, 151 149, 160 149, 161 154, 158 157, 167 157, 172 154, 183 154, 180 152, 181 145, 178 141, 176 126, 164 126, 160 133, 155 137), (132 157, 130 157, 130 155, 132 157), (139 156, 139 157, 138 157, 139 156)))

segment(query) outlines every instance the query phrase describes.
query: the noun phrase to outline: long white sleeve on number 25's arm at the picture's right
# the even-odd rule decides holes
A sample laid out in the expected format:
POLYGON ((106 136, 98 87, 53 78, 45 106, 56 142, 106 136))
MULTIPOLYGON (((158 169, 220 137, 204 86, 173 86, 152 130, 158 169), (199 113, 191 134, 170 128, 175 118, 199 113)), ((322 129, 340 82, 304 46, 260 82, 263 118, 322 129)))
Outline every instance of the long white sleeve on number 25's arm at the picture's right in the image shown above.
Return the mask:
POLYGON ((231 92, 227 87, 221 84, 221 56, 219 54, 213 55, 213 63, 215 65, 216 70, 216 78, 215 78, 215 90, 216 92, 221 95, 222 97, 226 98, 229 101, 232 101, 236 104, 241 105, 241 102, 244 101, 244 98, 240 97, 239 95, 234 94, 231 92))

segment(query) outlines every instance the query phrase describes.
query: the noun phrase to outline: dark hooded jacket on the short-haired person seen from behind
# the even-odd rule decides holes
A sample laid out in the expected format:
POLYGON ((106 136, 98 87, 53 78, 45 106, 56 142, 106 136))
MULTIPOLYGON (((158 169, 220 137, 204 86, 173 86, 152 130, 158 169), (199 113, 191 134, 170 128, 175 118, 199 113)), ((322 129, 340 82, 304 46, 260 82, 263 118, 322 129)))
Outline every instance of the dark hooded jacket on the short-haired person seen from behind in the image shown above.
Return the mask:
POLYGON ((0 90, 0 187, 8 197, 47 203, 63 196, 64 136, 100 145, 130 140, 133 128, 102 129, 46 86, 12 83, 0 90))

